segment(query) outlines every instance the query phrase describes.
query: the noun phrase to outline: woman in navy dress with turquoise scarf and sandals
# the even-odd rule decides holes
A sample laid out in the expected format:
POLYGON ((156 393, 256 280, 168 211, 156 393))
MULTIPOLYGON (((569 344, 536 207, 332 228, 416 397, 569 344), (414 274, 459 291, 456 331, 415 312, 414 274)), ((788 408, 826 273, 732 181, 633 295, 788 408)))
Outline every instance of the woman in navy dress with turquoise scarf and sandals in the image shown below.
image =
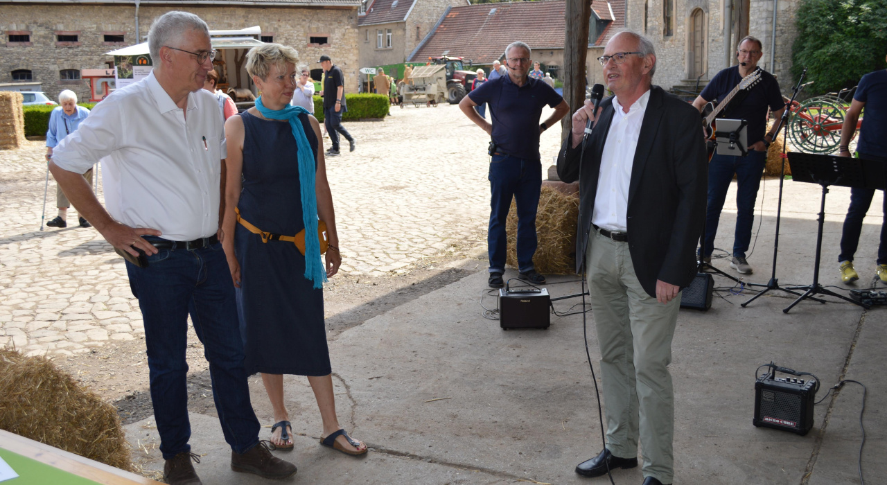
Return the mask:
POLYGON ((262 373, 274 409, 271 442, 293 448, 283 374, 303 375, 323 420, 320 444, 364 455, 366 445, 341 429, 335 412, 323 283, 339 270, 341 255, 319 123, 302 106, 289 106, 298 62, 298 52, 277 43, 247 53, 247 73, 261 96, 225 122, 223 246, 237 287, 247 374, 262 373))

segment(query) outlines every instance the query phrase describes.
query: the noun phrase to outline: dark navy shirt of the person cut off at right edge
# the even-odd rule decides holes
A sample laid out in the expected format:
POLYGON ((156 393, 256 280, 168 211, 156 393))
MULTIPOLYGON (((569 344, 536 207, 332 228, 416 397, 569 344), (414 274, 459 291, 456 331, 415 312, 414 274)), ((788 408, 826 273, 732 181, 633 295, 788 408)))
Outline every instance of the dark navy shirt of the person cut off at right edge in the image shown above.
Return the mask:
POLYGON ((887 156, 887 69, 862 76, 853 99, 866 104, 856 151, 887 156))

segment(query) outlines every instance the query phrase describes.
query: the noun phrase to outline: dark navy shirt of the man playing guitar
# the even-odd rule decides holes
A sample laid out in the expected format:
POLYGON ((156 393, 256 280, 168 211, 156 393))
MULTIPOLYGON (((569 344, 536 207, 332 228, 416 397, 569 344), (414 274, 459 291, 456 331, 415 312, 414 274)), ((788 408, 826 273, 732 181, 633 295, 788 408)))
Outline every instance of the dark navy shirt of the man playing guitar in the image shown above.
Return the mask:
MULTIPOLYGON (((706 101, 713 101, 715 106, 718 106, 718 102, 726 98, 726 95, 730 94, 740 82, 742 75, 739 74, 739 66, 727 67, 711 78, 699 96, 706 101)), ((764 139, 767 129, 767 107, 776 111, 784 107, 785 102, 782 101, 776 78, 764 70, 761 70, 760 81, 746 92, 744 99, 742 91, 736 93, 730 105, 718 115, 718 118, 748 121, 748 143, 754 145, 764 139)))

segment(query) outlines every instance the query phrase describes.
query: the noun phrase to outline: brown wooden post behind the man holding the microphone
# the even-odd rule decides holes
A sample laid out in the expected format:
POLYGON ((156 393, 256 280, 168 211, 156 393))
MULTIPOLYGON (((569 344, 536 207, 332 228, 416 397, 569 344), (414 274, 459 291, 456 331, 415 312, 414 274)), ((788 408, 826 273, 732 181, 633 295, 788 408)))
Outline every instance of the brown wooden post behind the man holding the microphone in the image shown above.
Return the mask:
POLYGON ((585 102, 585 54, 588 51, 588 20, 591 0, 566 0, 563 41, 563 98, 569 114, 561 120, 561 140, 569 136, 573 113, 585 102))

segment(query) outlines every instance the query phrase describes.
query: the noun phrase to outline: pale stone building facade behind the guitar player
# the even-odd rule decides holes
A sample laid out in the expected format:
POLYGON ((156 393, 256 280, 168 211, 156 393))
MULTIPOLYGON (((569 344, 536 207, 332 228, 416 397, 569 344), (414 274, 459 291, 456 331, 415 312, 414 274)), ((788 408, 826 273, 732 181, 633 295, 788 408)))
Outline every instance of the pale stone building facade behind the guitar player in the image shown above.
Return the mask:
POLYGON ((625 1, 625 25, 655 43, 656 84, 693 90, 698 82, 704 87, 718 71, 736 64, 737 43, 753 35, 764 44, 758 66, 776 75, 783 91, 791 89, 799 0, 625 1))

